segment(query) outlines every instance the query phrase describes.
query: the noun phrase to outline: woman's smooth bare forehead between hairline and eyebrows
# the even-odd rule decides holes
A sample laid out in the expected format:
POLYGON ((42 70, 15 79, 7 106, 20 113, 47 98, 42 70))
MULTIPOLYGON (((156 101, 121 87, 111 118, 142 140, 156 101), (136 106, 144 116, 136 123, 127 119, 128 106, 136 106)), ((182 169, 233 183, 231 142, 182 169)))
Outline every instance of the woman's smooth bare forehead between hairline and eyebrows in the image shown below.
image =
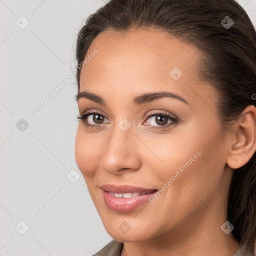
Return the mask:
POLYGON ((212 97, 212 89, 198 74, 202 53, 166 32, 109 29, 94 38, 86 55, 95 49, 98 53, 81 69, 80 91, 92 86, 99 93, 110 89, 119 95, 131 91, 135 95, 163 88, 187 98, 212 97), (177 80, 175 73, 181 75, 177 80))

